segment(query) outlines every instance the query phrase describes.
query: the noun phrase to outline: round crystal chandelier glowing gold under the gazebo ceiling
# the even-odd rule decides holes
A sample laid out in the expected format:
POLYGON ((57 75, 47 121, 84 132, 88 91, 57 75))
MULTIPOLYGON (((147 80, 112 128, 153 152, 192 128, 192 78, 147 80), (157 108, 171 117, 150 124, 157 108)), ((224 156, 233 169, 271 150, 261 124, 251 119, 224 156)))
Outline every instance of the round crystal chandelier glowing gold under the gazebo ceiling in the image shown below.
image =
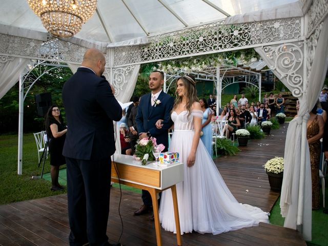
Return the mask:
POLYGON ((44 27, 54 36, 71 37, 93 15, 97 0, 27 0, 44 27))

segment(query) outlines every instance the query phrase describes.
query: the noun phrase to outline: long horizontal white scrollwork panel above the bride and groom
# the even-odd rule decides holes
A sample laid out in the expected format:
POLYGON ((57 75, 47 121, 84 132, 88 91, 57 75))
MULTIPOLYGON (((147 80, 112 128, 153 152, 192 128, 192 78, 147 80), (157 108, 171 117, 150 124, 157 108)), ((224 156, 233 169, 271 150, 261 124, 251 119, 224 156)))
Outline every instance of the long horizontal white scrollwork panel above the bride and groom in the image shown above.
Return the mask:
POLYGON ((223 21, 149 37, 148 46, 114 49, 114 66, 224 52, 301 36, 301 18, 224 25, 223 21))

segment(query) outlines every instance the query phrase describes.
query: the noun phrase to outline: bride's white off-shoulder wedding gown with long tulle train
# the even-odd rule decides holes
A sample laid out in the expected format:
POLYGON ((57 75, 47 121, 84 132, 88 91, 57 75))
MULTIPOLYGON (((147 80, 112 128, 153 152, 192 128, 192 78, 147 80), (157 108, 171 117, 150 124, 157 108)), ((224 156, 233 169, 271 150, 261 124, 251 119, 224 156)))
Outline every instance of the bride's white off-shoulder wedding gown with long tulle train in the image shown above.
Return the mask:
MULTIPOLYGON (((187 167, 194 136, 194 117, 203 117, 201 110, 173 112, 174 133, 169 151, 178 152, 185 163, 184 180, 177 184, 181 234, 219 234, 268 222, 269 213, 239 203, 228 189, 212 157, 199 141, 193 167, 187 167)), ((166 231, 176 233, 171 189, 162 192, 159 218, 166 231)))

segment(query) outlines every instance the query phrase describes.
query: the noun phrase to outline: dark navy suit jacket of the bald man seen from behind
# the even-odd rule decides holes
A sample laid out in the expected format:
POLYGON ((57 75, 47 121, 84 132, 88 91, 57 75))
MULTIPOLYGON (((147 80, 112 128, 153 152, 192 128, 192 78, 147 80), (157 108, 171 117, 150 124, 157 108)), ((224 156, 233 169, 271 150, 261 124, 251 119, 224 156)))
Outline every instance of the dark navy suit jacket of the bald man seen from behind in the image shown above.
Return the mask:
POLYGON ((78 68, 63 87, 68 131, 63 155, 98 160, 115 152, 113 120, 122 117, 108 81, 78 68))

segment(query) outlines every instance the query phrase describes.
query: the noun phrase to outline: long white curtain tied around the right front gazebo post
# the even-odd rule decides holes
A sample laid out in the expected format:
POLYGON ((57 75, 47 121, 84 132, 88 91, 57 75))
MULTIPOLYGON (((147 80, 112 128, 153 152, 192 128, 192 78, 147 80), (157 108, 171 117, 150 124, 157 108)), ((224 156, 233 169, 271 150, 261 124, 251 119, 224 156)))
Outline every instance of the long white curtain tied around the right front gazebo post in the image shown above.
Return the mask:
MULTIPOLYGON (((288 76, 281 76, 281 71, 276 67, 276 60, 271 59, 268 52, 265 52, 263 48, 256 48, 256 51, 273 68, 273 72, 282 83, 291 91, 296 90, 295 93, 300 95, 298 117, 290 122, 286 135, 280 208, 281 215, 285 217, 284 227, 296 229, 297 225, 302 224, 302 233, 305 240, 312 239, 312 185, 309 145, 306 139, 306 123, 309 119, 308 112, 312 110, 318 99, 327 71, 327 40, 328 18, 324 20, 321 26, 315 50, 311 50, 312 53, 308 51, 308 56, 313 56, 313 63, 307 80, 308 83, 303 88, 295 88, 293 83, 288 81, 288 76), (303 91, 303 93, 301 94, 301 91, 298 90, 303 91)), ((283 48, 285 47, 283 46, 283 48)), ((294 55, 297 56, 295 50, 294 55)), ((299 58, 302 59, 302 57, 296 57, 296 60, 299 58)), ((306 61, 308 60, 306 59, 306 61)), ((303 69, 305 69, 305 65, 299 66, 298 71, 294 75, 296 77, 299 74, 303 75, 303 69)))

